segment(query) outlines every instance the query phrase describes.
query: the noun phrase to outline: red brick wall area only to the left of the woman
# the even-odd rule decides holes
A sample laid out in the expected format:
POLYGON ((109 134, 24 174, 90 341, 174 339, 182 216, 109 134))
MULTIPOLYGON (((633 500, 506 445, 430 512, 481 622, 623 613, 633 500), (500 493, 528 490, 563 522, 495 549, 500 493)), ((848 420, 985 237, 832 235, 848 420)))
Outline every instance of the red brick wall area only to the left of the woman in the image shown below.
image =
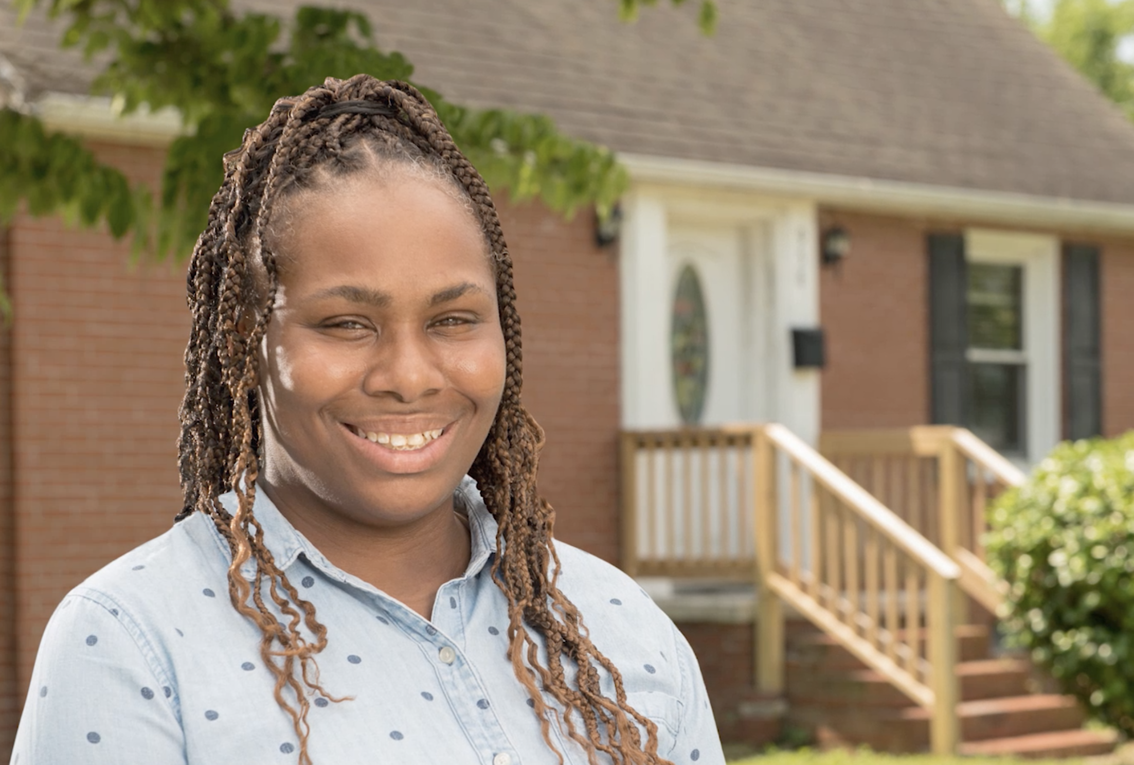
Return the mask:
MULTIPOLYGON (((151 182, 161 152, 100 146, 151 182)), ((62 595, 167 529, 180 507, 177 406, 188 334, 180 268, 129 244, 17 219, 10 234, 20 697, 62 595)))

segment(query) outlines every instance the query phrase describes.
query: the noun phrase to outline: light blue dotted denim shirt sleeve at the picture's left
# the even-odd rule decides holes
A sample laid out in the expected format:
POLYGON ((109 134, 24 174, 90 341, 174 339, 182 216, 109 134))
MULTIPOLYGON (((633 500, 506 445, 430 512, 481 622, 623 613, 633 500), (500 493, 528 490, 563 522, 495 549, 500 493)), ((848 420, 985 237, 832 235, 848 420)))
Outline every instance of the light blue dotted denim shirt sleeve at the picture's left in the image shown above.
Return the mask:
POLYGON ((62 602, 40 644, 12 765, 185 765, 166 673, 119 608, 62 602))

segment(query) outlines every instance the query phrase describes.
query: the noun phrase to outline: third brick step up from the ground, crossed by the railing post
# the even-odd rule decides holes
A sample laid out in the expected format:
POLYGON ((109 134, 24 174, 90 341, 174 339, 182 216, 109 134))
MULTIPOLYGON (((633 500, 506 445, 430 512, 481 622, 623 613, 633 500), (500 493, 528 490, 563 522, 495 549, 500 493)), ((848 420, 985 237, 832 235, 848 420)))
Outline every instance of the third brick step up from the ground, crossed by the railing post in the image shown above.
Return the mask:
MULTIPOLYGON (((1029 692, 1031 665, 1018 659, 981 659, 957 665, 960 700, 1029 692)), ((830 671, 810 665, 788 664, 787 691, 793 704, 909 706, 909 697, 873 670, 830 671)))

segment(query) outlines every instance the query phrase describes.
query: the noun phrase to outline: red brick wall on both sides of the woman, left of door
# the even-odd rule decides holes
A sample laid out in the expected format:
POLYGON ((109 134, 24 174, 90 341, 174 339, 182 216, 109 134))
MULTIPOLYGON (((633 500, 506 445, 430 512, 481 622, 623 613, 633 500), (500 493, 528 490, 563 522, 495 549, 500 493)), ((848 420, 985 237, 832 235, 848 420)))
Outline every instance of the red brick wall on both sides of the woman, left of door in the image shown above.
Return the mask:
MULTIPOLYGON (((155 182, 159 150, 96 149, 155 182)), ((617 267, 594 247, 587 215, 565 222, 539 204, 501 207, 524 318, 526 402, 548 432, 541 487, 558 510, 558 536, 613 560, 617 267)), ((10 522, 16 554, 0 554, 15 574, 0 579, 15 585, 0 590, 0 617, 5 597, 16 617, 2 619, 14 629, 0 632, 0 671, 16 688, 0 686, 0 758, 56 604, 180 510, 177 407, 188 334, 184 267, 132 268, 128 242, 57 219, 20 217, 5 241, 15 321, 10 397, 0 331, 0 507, 8 510, 10 453, 15 497, 0 519, 0 553, 10 522)))

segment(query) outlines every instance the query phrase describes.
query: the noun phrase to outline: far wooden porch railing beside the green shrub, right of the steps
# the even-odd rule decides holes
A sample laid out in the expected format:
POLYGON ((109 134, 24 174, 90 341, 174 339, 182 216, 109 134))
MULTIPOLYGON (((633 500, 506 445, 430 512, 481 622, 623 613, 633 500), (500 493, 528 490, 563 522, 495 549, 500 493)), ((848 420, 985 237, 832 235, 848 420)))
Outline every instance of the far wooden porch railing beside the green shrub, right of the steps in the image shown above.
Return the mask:
POLYGON ((1023 482, 1018 468, 968 430, 951 426, 828 431, 819 448, 956 561, 962 589, 998 612, 1007 586, 984 563, 981 539, 989 502, 1023 482))

